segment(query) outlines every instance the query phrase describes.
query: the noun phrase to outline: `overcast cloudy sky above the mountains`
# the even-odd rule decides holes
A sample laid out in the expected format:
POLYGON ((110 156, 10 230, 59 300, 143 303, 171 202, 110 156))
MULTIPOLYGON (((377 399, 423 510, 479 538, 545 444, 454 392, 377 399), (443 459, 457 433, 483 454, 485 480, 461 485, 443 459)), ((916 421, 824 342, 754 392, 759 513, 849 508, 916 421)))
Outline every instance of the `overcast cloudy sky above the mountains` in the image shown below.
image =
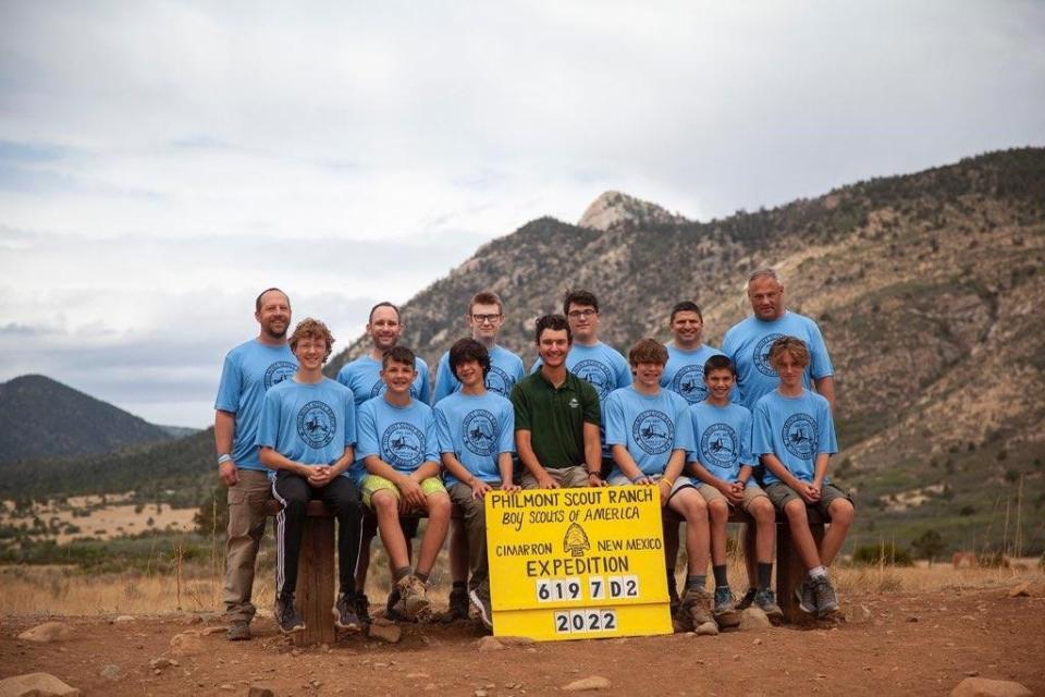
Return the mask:
POLYGON ((706 219, 1021 145, 1033 1, 0 0, 0 381, 204 426, 262 288, 344 345, 605 189, 706 219))

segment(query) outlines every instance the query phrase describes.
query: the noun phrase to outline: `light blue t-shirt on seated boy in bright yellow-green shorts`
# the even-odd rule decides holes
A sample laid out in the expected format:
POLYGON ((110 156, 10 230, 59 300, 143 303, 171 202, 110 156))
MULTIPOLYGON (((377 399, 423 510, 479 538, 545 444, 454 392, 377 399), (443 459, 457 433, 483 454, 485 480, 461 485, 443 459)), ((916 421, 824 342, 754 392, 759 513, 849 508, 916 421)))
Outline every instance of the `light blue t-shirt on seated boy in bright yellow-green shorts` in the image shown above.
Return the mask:
POLYGON ((353 474, 357 480, 367 474, 362 461, 369 455, 405 475, 426 462, 439 464, 435 417, 432 407, 419 400, 410 400, 407 406, 390 404, 384 396, 364 402, 356 415, 356 432, 353 474))

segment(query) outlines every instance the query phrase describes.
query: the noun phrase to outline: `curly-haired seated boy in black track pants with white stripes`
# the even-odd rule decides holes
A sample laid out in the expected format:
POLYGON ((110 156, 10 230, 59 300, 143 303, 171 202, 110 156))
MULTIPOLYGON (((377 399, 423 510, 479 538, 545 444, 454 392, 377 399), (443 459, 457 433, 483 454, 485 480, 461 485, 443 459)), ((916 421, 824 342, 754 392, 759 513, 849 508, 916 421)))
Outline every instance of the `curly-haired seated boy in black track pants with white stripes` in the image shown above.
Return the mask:
POLYGON ((283 504, 275 516, 275 623, 283 633, 299 632, 305 622, 294 606, 297 558, 305 527, 305 505, 320 499, 337 518, 337 579, 334 624, 359 628, 353 572, 359 557, 362 510, 347 470, 356 441, 352 391, 323 377, 334 338, 323 322, 305 319, 291 337, 297 372, 265 395, 258 430, 261 462, 275 470, 272 493, 283 504))

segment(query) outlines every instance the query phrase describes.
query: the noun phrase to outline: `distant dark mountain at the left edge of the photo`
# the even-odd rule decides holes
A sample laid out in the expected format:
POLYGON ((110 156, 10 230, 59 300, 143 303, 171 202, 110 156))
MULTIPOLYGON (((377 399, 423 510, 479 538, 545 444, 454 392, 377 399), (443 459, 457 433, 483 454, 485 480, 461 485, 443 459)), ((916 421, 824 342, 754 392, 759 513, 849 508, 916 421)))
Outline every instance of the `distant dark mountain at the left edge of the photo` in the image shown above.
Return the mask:
POLYGON ((0 461, 106 453, 169 440, 161 426, 41 375, 0 384, 0 461))

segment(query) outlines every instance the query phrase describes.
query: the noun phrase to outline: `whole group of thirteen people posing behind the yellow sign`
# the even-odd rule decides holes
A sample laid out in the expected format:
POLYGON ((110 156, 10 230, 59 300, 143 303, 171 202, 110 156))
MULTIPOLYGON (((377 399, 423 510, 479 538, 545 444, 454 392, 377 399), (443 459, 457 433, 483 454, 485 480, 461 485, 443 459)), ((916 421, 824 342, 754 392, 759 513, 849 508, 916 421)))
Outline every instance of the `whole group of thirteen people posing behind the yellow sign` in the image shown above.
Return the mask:
POLYGON ((259 334, 225 357, 214 405, 219 477, 229 487, 229 638, 250 638, 270 497, 282 504, 274 616, 283 632, 304 628, 294 595, 314 499, 339 522, 336 626, 353 631, 370 621, 365 587, 376 535, 393 576, 391 616, 432 614, 427 584, 448 536, 453 587, 442 617, 467 619, 472 604, 492 626, 483 497, 520 487, 656 487, 662 505, 687 523, 681 594, 678 527, 665 527, 668 589, 684 628, 735 626, 738 610, 750 604, 773 621, 783 617, 771 587, 777 515, 808 570, 799 607, 817 616, 837 610, 827 566, 853 506, 827 478, 837 451, 831 359, 816 323, 785 308, 775 271, 752 273, 747 291, 753 314, 726 332, 721 350, 703 342, 701 310, 685 301, 671 311, 672 341, 642 339, 627 358, 599 340, 595 295, 569 291, 562 315, 536 322, 538 358, 529 372, 497 344, 501 298, 481 292, 465 317, 470 337, 440 358, 434 386, 425 360, 398 343, 395 305, 371 309, 369 350, 332 380, 322 372, 334 342, 327 326, 308 318, 287 337, 290 298, 279 289, 262 292, 259 334), (455 506, 460 515, 452 518, 455 506), (726 572, 732 509, 752 519, 748 590, 739 601, 726 572), (819 543, 809 509, 831 522, 819 543), (428 524, 415 561, 418 512, 428 524))

